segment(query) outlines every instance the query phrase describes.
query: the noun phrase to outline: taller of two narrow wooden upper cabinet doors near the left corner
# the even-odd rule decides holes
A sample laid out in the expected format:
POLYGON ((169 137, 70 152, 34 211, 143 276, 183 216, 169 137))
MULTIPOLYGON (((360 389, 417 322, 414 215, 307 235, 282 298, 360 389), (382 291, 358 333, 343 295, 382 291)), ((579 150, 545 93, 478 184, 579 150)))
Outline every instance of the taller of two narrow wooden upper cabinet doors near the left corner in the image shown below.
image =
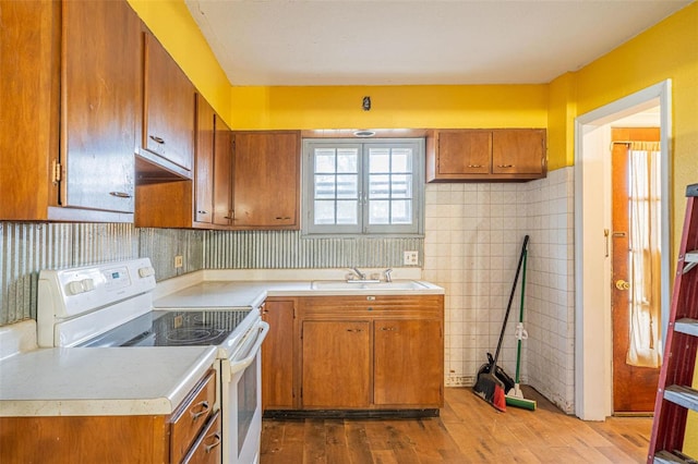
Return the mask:
POLYGON ((214 209, 214 109, 196 94, 194 220, 210 223, 214 209))

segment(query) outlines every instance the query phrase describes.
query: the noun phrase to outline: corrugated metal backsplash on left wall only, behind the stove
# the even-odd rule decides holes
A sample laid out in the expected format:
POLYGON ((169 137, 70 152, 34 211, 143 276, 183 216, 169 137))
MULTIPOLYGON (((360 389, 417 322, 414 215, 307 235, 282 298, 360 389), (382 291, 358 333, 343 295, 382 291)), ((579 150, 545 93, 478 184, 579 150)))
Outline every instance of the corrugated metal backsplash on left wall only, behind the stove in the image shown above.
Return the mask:
POLYGON ((113 223, 0 222, 0 326, 36 318, 41 269, 152 257, 156 279, 201 269, 201 232, 113 223), (176 270, 176 255, 184 266, 176 270))

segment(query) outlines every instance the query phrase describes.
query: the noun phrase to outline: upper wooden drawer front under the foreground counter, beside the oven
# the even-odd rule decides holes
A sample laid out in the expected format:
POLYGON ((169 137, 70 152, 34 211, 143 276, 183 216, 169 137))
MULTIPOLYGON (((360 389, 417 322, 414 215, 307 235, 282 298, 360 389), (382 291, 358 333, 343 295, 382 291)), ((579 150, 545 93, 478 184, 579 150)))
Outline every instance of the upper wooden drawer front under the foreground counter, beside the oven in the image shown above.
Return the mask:
POLYGON ((178 463, 186 454, 206 420, 212 416, 215 402, 216 373, 210 370, 172 415, 171 462, 178 463))

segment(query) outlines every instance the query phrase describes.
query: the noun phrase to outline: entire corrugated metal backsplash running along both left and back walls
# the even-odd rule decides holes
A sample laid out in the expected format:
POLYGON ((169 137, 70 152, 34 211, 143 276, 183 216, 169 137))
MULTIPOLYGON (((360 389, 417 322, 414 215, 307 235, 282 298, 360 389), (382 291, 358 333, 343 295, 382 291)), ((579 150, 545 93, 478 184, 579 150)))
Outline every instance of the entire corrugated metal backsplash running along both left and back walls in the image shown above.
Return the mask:
POLYGON ((0 222, 0 326, 36 318, 38 273, 148 257, 157 281, 203 268, 398 267, 423 239, 303 239, 298 231, 137 229, 132 224, 0 222), (183 266, 174 268, 174 257, 183 266))

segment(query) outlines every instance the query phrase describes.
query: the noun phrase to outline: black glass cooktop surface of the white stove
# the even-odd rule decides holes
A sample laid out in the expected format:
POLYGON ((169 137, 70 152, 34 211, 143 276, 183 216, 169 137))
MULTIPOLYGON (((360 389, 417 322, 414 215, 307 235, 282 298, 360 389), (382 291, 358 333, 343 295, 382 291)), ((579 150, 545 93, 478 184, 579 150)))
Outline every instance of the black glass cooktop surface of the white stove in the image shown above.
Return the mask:
POLYGON ((218 345, 250 314, 239 310, 154 310, 81 346, 218 345))

